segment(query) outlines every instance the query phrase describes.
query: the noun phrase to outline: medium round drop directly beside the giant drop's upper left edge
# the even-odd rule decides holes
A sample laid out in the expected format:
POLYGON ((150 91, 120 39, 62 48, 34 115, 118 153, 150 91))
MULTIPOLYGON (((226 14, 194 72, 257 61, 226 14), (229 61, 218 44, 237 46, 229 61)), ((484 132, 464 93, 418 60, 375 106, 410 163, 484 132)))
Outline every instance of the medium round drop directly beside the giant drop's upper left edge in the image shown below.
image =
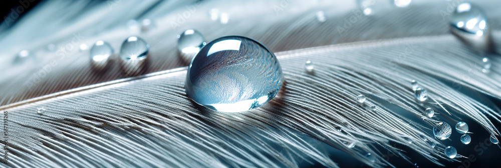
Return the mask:
POLYGON ((194 29, 185 30, 177 39, 177 49, 186 61, 190 61, 204 45, 202 33, 194 29))

